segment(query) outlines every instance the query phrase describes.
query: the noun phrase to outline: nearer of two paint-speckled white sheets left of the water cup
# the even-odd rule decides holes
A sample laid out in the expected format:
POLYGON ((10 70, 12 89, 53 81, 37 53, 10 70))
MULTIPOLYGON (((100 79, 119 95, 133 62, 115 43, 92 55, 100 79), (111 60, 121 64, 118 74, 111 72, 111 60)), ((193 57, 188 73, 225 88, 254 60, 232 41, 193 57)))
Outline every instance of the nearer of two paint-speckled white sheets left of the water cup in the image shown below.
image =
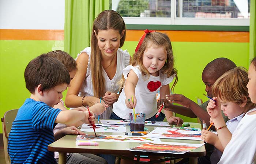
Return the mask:
MULTIPOLYGON (((95 124, 96 125, 96 124, 95 124)), ((81 129, 83 132, 94 132, 93 126, 89 124, 83 124, 81 129)), ((123 125, 110 125, 110 124, 98 124, 95 127, 96 132, 111 132, 111 133, 125 133, 126 127, 123 125)))

